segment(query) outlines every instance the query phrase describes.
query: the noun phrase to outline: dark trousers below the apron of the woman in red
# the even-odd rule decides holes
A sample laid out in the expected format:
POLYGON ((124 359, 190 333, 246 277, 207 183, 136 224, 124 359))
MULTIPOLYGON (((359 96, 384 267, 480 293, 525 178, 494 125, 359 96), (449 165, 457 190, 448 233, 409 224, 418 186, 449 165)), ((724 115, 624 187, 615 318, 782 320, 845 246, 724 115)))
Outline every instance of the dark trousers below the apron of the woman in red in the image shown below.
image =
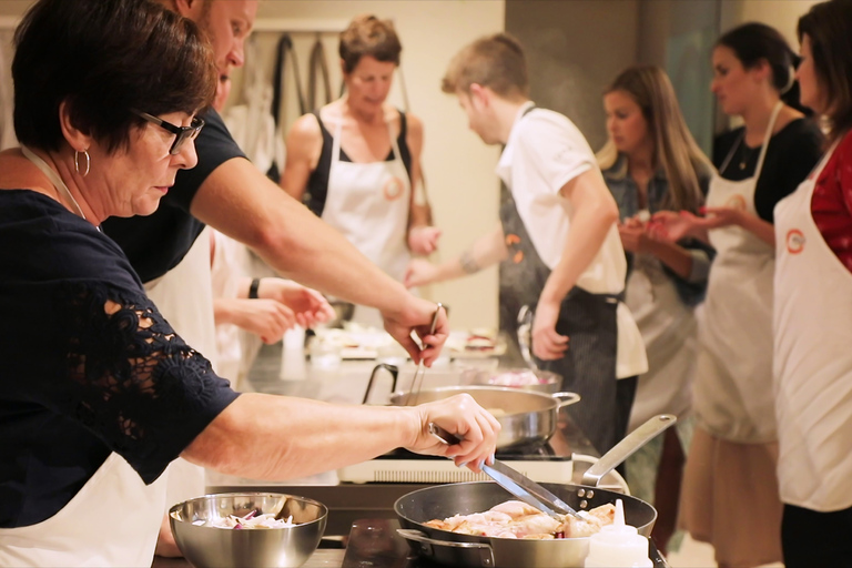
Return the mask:
POLYGON ((852 507, 820 513, 784 505, 785 568, 852 568, 852 507))

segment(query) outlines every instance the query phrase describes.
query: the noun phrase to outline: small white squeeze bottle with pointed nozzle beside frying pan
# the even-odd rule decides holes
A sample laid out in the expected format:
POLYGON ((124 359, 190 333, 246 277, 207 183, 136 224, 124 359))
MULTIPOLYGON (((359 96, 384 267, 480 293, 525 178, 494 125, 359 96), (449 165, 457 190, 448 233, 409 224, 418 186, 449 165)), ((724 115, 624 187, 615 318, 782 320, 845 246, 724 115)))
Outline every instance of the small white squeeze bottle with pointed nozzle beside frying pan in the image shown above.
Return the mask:
POLYGON ((616 501, 616 520, 589 537, 586 568, 653 568, 648 539, 625 524, 625 504, 616 501))

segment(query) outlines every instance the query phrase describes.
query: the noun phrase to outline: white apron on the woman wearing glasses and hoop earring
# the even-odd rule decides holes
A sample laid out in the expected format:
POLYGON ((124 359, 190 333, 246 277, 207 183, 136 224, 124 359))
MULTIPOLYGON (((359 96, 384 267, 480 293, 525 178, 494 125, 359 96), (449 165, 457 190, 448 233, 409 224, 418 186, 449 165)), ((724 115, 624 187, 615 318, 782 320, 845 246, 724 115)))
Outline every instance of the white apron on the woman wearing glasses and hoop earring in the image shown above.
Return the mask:
POLYGON ((165 508, 165 475, 145 485, 111 454, 59 513, 0 529, 0 566, 150 567, 165 508))

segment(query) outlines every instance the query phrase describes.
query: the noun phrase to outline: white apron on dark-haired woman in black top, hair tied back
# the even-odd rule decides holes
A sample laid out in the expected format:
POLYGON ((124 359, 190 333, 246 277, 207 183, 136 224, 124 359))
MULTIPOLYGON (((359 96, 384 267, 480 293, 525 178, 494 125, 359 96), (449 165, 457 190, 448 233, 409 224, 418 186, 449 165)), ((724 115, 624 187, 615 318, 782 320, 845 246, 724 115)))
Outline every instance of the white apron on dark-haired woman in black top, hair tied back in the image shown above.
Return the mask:
MULTIPOLYGON (((752 215, 754 187, 782 103, 772 111, 754 176, 739 182, 716 174, 708 207, 739 207, 752 215)), ((744 143, 744 140, 740 143, 744 143)), ((724 171, 737 145, 731 149, 724 171)), ((730 442, 777 439, 772 396, 772 278, 774 251, 753 233, 727 226, 710 231, 717 256, 710 268, 693 408, 707 432, 730 442)))

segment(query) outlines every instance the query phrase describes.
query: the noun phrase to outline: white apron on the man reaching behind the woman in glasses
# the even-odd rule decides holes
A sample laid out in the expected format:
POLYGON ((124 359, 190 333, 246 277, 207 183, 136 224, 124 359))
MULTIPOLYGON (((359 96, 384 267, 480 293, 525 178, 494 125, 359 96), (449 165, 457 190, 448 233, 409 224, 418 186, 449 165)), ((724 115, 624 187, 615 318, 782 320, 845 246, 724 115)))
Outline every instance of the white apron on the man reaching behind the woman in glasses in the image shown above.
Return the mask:
MULTIPOLYGON (((178 335, 215 368, 216 334, 209 231, 202 231, 178 266, 160 278, 146 282, 145 291, 178 335)), ((178 458, 169 466, 169 473, 166 507, 204 495, 203 467, 178 458)), ((161 516, 165 510, 161 511, 161 516)))

